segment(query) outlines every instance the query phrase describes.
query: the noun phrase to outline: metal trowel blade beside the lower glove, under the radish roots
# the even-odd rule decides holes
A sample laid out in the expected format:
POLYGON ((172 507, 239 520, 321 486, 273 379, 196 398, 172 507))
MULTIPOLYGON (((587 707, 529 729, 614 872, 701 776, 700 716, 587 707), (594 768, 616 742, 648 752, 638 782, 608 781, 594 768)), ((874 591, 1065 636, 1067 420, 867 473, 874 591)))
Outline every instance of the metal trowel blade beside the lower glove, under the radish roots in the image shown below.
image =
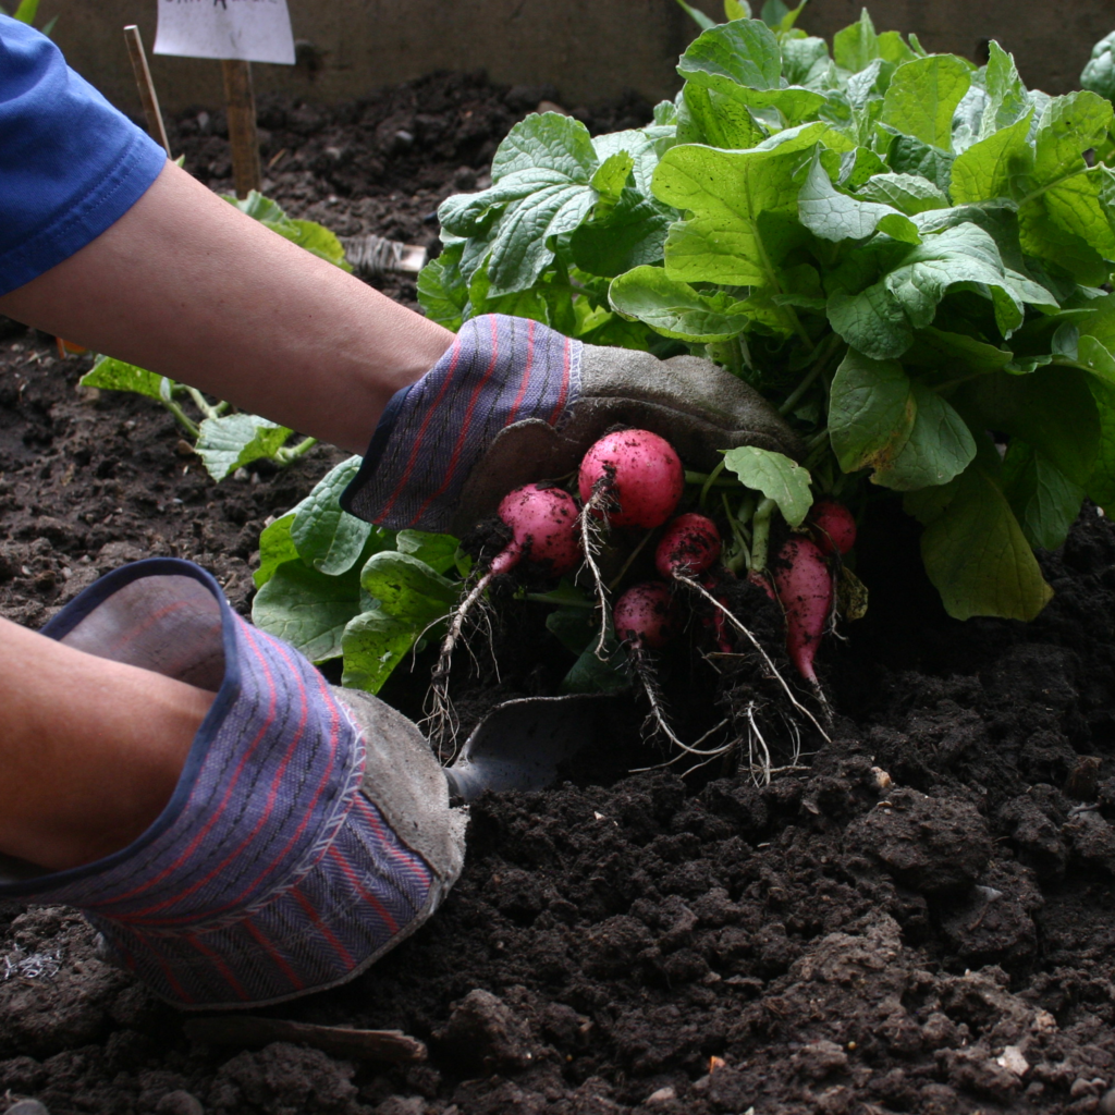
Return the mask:
POLYGON ((472 802, 485 789, 544 789, 556 779, 559 765, 592 741, 608 699, 573 694, 497 705, 445 768, 449 793, 472 802))

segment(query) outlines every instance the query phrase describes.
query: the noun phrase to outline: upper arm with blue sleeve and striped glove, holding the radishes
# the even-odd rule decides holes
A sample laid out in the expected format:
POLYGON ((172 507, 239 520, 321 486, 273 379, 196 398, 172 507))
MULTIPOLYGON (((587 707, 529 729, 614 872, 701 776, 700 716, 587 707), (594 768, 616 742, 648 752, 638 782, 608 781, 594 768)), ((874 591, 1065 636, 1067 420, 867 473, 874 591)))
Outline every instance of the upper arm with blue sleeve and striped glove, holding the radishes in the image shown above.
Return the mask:
POLYGON ((0 17, 6 207, 22 235, 0 223, 0 312, 365 453, 347 503, 389 526, 459 533, 618 421, 671 437, 697 465, 738 444, 793 453, 785 424, 707 361, 659 363, 498 316, 454 338, 166 165, 47 40, 0 17), (7 56, 23 59, 22 86, 7 56), (98 129, 107 140, 93 144, 98 129), (8 148, 21 144, 19 162, 8 148), (66 147, 79 157, 59 157, 66 147))

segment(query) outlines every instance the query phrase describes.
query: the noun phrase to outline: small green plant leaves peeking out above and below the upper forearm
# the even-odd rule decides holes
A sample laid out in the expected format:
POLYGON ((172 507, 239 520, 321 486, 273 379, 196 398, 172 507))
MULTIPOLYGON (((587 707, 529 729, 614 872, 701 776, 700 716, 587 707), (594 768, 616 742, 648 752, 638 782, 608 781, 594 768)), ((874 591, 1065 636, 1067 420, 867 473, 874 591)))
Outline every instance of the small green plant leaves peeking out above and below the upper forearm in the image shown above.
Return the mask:
MULTIPOLYGON (((352 270, 345 260, 340 241, 323 225, 289 217, 278 203, 254 190, 243 201, 231 196, 224 200, 308 252, 346 271, 352 270)), ((81 384, 104 390, 134 391, 157 399, 195 440, 197 455, 216 481, 231 476, 253 460, 266 459, 279 466, 289 465, 317 445, 317 439, 312 437, 290 445, 293 430, 285 426, 256 415, 230 414, 227 403, 210 403, 193 387, 110 357, 99 357, 93 369, 81 378, 81 384), (182 406, 185 399, 197 408, 200 421, 186 414, 182 406)))

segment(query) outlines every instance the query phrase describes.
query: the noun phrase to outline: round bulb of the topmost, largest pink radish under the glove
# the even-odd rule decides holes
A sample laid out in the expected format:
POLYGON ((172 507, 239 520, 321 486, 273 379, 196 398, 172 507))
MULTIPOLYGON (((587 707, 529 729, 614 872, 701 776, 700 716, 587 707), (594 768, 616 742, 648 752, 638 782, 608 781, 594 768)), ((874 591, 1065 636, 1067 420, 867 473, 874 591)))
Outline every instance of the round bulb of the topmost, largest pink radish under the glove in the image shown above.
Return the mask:
POLYGON ((686 486, 681 458, 646 429, 605 434, 581 460, 578 477, 586 511, 613 526, 661 526, 686 486))

